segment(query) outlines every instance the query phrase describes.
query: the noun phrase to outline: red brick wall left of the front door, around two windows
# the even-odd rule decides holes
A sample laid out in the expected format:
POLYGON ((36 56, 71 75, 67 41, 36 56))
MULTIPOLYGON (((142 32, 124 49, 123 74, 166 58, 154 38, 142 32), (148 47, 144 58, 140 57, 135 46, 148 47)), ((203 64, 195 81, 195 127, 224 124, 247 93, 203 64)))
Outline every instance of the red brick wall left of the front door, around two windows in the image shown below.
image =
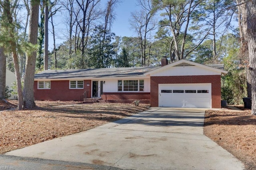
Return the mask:
POLYGON ((86 97, 91 97, 91 80, 84 80, 84 89, 69 89, 69 81, 51 81, 51 89, 37 89, 37 81, 34 82, 35 100, 49 101, 83 101, 82 94, 86 91, 86 97), (87 86, 87 84, 89 86, 87 86))

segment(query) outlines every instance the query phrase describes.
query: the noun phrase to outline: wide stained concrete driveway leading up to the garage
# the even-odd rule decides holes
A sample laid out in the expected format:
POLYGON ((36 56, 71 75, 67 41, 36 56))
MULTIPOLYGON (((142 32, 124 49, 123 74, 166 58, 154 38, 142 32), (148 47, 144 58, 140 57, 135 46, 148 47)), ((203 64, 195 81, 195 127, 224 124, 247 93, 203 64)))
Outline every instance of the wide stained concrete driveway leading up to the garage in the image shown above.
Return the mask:
POLYGON ((140 170, 243 169, 238 159, 203 135, 203 124, 204 109, 156 107, 6 155, 140 170))

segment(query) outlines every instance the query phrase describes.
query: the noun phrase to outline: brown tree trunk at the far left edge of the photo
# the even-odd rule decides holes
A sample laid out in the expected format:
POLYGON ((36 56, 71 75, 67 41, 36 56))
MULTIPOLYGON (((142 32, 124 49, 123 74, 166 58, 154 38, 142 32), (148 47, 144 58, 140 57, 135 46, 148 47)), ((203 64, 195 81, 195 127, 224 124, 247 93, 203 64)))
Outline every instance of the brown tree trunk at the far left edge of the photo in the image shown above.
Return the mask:
POLYGON ((0 100, 5 100, 6 86, 6 55, 4 47, 0 47, 0 100))

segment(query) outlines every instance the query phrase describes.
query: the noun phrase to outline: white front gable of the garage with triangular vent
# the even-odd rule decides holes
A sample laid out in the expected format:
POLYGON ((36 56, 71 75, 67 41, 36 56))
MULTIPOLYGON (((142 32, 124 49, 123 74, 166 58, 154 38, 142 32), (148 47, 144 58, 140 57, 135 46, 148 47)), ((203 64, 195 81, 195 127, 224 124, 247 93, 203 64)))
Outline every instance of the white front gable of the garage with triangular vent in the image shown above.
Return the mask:
POLYGON ((194 63, 188 60, 180 60, 149 71, 145 75, 150 76, 192 76, 192 75, 221 75, 227 74, 225 70, 194 63))

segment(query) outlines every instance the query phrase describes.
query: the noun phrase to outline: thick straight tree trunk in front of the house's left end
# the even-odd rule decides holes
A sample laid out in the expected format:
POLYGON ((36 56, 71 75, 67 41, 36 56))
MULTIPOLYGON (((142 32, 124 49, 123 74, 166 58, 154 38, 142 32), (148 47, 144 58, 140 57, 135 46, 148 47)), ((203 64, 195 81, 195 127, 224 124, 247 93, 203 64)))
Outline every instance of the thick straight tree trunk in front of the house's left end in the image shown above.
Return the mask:
MULTIPOLYGON (((38 17, 39 17, 39 3, 40 0, 33 0, 30 4, 30 22, 28 41, 33 45, 37 44, 38 36, 38 17)), ((26 71, 24 75, 24 102, 25 107, 35 107, 34 100, 34 74, 36 67, 36 50, 27 55, 26 71)))

